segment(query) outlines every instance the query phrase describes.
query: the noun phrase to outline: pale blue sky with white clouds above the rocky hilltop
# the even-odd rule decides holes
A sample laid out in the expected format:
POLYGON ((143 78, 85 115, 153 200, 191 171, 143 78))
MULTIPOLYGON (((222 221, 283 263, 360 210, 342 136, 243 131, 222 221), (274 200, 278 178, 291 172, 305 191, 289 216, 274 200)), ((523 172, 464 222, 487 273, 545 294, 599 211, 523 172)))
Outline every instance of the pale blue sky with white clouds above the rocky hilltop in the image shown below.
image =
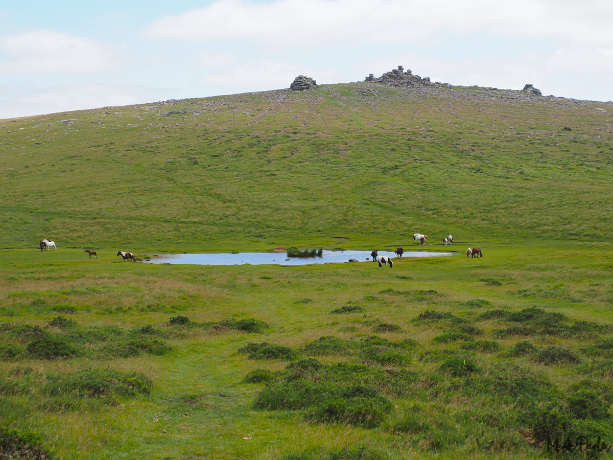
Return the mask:
POLYGON ((0 0, 0 118, 356 82, 613 99, 613 1, 0 0))

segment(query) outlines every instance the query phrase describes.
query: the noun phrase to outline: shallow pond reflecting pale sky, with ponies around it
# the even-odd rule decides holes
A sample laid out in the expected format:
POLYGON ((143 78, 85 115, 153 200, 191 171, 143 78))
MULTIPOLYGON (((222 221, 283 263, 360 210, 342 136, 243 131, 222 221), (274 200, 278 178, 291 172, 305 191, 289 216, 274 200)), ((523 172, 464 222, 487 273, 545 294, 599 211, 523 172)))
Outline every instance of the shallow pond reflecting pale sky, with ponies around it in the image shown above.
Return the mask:
MULTIPOLYGON (((450 252, 427 252, 411 251, 405 252, 403 257, 441 257, 452 256, 450 252)), ((390 251, 379 251, 379 256, 395 257, 396 254, 390 251)), ((370 251, 324 251, 321 257, 292 257, 288 258, 286 253, 281 252, 241 252, 230 253, 200 253, 200 254, 168 254, 160 255, 145 263, 150 264, 194 264, 194 265, 308 265, 308 264, 327 264, 343 263, 349 259, 356 259, 365 262, 373 259, 370 251)))

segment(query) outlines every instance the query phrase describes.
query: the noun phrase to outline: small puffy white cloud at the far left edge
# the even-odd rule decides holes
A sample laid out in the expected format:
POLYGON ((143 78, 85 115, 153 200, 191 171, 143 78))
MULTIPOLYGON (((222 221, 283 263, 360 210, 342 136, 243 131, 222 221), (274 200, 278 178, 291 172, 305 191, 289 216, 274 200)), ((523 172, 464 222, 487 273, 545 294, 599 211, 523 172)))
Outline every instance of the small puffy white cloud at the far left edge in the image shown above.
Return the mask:
POLYGON ((116 72, 117 52, 109 44, 62 32, 39 30, 0 37, 9 59, 0 61, 0 73, 116 72))

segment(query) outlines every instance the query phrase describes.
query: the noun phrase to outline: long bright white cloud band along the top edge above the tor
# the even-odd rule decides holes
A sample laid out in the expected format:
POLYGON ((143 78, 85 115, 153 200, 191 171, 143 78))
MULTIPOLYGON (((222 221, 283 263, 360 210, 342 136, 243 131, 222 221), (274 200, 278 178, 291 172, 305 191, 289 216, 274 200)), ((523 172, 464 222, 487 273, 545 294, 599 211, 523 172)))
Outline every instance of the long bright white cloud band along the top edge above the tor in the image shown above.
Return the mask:
POLYGON ((432 36, 485 31, 506 37, 555 37, 613 45, 613 3, 603 0, 218 0, 169 15, 145 30, 148 38, 278 40, 300 49, 329 40, 425 42, 432 36))

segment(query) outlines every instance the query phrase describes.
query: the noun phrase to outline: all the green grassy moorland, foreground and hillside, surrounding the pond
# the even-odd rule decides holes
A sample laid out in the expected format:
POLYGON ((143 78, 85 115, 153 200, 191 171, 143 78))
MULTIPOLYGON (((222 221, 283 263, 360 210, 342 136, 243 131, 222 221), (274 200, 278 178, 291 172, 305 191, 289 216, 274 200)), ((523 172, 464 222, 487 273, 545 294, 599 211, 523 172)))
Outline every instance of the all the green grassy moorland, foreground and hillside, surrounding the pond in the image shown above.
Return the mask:
POLYGON ((0 458, 611 457, 611 104, 368 88, 6 120, 0 458))

